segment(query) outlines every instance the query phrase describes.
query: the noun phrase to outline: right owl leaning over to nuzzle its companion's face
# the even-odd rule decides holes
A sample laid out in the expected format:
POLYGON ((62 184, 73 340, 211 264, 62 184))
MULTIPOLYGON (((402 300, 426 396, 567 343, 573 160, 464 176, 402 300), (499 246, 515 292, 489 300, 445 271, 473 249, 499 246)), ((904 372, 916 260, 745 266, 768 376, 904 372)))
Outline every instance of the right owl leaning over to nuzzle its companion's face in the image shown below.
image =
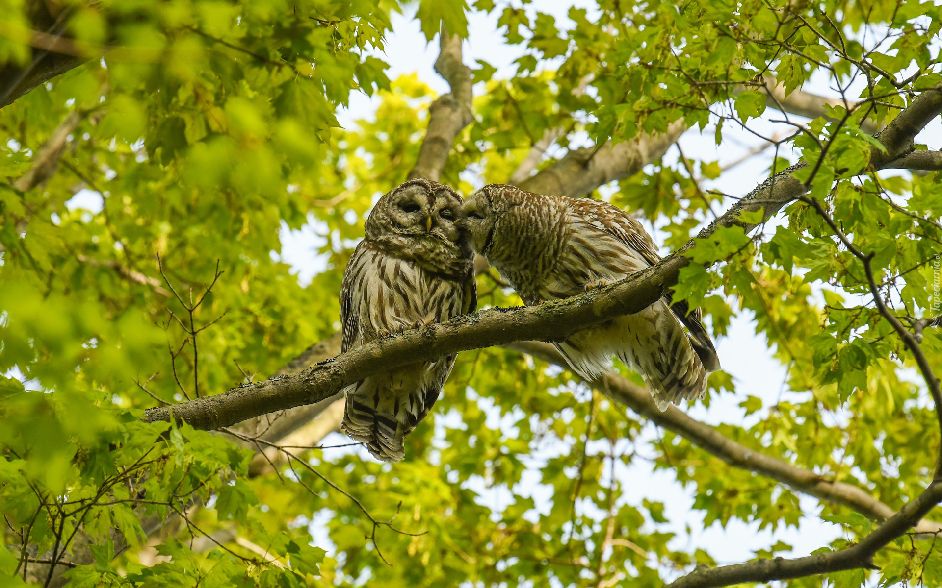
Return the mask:
MULTIPOLYGON (((475 250, 527 305, 582 294, 660 260, 642 224, 601 200, 541 196, 493 183, 465 199, 461 224, 475 250)), ((555 344, 587 379, 608 372, 612 357, 621 359, 642 375, 658 408, 667 410, 681 399, 702 398, 707 372, 720 368, 699 311, 687 310, 682 303, 672 310, 660 299, 555 344)))

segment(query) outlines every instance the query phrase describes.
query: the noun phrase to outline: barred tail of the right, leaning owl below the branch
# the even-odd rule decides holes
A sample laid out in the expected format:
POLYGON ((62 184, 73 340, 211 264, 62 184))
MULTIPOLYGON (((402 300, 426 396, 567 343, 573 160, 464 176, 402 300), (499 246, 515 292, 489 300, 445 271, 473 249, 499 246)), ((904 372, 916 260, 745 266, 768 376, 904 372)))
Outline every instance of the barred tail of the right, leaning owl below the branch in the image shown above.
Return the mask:
MULTIPOLYGON (((634 317, 641 319, 635 322, 634 329, 643 334, 639 333, 638 343, 630 345, 619 358, 641 373, 658 409, 663 412, 672 403, 679 405, 681 400, 703 398, 707 390, 707 371, 697 353, 697 340, 687 336, 662 302, 625 318, 634 317)), ((710 349, 712 346, 709 345, 710 349)))

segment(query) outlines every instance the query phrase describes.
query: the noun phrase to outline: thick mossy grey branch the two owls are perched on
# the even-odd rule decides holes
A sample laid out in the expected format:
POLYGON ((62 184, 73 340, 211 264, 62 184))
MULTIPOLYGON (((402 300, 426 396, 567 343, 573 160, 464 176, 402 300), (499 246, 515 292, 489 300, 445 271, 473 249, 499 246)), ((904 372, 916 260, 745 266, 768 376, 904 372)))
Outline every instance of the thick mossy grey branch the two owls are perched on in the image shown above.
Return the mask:
MULTIPOLYGON (((880 140, 890 153, 909 151, 912 138, 918 134, 918 122, 921 121, 924 126, 940 111, 942 91, 934 88, 924 92, 897 119, 890 122, 880 135, 880 140), (901 146, 890 142, 890 139, 908 140, 910 143, 901 146)), ((879 161, 876 163, 879 164, 879 161)), ((764 217, 769 218, 788 202, 804 194, 808 187, 791 175, 796 168, 790 167, 760 184, 730 211, 702 230, 699 237, 709 236, 720 226, 734 224, 747 231, 752 230, 755 225, 739 220, 742 211, 763 210, 764 217)), ((685 249, 690 246, 693 246, 693 242, 685 249)), ((687 258, 678 253, 592 293, 546 302, 539 307, 486 310, 457 317, 444 324, 423 326, 370 342, 298 375, 272 378, 191 403, 151 408, 146 412, 144 420, 169 421, 172 414, 174 418, 187 421, 194 427, 216 429, 274 410, 318 402, 353 382, 408 363, 515 341, 560 341, 579 328, 637 312, 658 300, 667 288, 676 283, 680 268, 688 263, 687 258)))

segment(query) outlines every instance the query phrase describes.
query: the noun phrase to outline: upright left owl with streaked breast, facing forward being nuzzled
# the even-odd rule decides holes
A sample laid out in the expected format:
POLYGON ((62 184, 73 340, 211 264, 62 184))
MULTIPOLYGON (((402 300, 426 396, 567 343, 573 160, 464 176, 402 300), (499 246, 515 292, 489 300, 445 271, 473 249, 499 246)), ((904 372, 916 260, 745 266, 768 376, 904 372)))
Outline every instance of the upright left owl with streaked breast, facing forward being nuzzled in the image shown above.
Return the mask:
MULTIPOLYGON (((474 311, 474 253, 456 221, 462 199, 429 180, 383 195, 340 290, 342 352, 414 327, 474 311)), ((455 356, 423 361, 352 384, 341 429, 382 461, 399 461, 402 440, 438 399, 455 356)))

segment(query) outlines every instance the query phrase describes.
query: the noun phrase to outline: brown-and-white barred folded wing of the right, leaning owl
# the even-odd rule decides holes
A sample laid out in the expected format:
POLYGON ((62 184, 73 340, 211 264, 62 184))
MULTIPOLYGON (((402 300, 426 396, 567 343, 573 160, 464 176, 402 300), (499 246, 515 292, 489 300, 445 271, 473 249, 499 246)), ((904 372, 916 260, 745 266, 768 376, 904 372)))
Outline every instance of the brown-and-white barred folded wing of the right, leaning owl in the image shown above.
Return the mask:
MULTIPOLYGON (((654 239, 651 238, 648 231, 644 230, 641 222, 617 206, 603 200, 578 199, 573 209, 577 214, 583 215, 593 226, 604 230, 618 241, 637 251, 644 258, 644 261, 649 264, 654 265, 661 260, 660 254, 658 254, 658 246, 655 245, 654 239)), ((664 295, 664 299, 671 305, 674 316, 690 331, 690 343, 707 372, 719 370, 720 358, 717 356, 716 348, 713 347, 713 342, 703 325, 702 311, 700 309, 690 311, 690 305, 686 300, 673 303, 670 292, 664 295)))

